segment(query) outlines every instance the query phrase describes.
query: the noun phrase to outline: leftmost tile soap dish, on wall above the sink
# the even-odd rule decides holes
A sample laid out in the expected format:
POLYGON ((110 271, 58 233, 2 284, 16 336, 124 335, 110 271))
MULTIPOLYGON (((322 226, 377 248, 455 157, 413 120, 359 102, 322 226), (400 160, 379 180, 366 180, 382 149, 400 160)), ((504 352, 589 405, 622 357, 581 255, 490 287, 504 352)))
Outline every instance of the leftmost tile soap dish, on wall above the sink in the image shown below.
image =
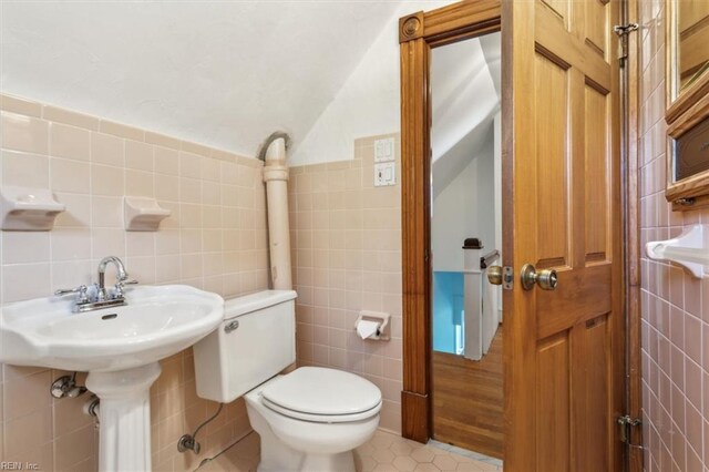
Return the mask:
POLYGON ((0 188, 0 227, 6 232, 48 232, 64 209, 48 188, 0 188))

